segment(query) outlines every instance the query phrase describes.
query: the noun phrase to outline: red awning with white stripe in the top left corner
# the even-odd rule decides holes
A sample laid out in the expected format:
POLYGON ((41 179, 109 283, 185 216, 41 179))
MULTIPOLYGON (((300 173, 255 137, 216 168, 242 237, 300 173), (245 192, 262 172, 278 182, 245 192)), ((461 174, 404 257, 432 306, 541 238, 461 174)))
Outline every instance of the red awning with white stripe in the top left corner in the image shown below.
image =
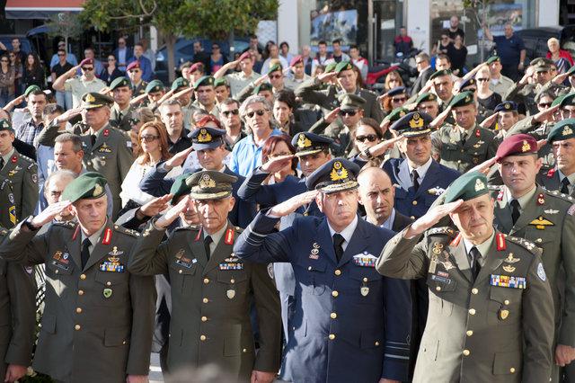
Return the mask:
POLYGON ((8 0, 7 19, 48 19, 60 12, 80 12, 84 0, 8 0))

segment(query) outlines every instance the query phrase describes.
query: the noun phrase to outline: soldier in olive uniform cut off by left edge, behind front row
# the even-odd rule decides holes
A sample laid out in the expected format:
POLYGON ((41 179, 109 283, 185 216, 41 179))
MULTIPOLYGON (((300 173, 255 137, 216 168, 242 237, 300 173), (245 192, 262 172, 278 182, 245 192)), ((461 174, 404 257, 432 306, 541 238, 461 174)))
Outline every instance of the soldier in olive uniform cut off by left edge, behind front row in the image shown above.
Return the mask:
POLYGON ((14 130, 0 119, 0 226, 13 227, 31 215, 38 202, 36 163, 13 147, 14 130))

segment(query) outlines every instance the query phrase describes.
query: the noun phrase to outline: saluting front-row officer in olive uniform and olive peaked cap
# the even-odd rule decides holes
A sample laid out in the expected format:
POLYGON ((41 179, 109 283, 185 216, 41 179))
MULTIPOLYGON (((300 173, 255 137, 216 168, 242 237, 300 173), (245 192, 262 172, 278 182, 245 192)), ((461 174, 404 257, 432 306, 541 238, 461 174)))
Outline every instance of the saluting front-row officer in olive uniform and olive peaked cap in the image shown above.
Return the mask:
POLYGON ((233 175, 214 171, 186 178, 190 197, 146 227, 128 270, 138 275, 170 275, 170 370, 215 363, 233 379, 271 382, 280 362, 279 298, 265 264, 234 256, 233 246, 242 232, 227 220, 234 206, 235 181, 233 175), (165 228, 190 199, 201 227, 177 228, 162 242, 165 228), (257 355, 250 323, 252 302, 258 312, 257 355))

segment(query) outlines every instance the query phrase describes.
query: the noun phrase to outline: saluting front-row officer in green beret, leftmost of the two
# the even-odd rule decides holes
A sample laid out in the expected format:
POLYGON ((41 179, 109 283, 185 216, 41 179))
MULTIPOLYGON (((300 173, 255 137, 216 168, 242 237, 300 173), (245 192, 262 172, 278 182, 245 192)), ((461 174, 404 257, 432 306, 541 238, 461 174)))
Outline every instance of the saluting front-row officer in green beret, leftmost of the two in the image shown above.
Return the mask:
POLYGON ((32 366, 59 382, 147 381, 154 282, 127 271, 137 233, 106 218, 105 184, 102 174, 80 175, 60 202, 22 220, 0 245, 7 261, 46 265, 32 366), (56 222, 38 234, 65 209, 77 223, 56 222))

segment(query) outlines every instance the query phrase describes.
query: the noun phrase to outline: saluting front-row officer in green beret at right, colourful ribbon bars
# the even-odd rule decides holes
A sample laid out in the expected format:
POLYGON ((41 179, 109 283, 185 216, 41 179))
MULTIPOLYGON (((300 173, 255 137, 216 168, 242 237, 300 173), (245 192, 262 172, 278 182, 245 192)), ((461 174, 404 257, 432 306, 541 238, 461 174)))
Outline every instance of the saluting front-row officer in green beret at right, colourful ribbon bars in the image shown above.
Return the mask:
POLYGON ((462 175, 385 245, 377 271, 427 278, 429 315, 413 382, 546 382, 553 300, 534 244, 494 229, 487 179, 462 175), (433 227, 441 218, 450 227, 433 227))

